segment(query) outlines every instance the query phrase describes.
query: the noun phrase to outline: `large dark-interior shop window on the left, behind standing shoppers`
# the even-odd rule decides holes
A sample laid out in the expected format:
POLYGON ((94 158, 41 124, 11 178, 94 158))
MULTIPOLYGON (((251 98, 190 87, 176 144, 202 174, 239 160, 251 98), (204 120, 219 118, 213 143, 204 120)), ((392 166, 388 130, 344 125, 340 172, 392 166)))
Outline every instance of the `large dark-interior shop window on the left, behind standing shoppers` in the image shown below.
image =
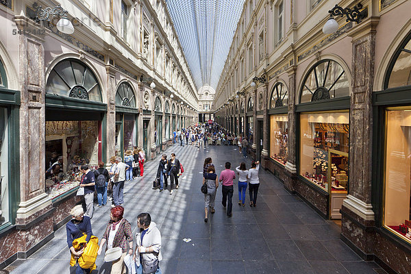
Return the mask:
POLYGON ((46 161, 58 161, 46 171, 46 191, 51 199, 76 188, 79 166, 99 162, 99 121, 47 121, 46 161))

